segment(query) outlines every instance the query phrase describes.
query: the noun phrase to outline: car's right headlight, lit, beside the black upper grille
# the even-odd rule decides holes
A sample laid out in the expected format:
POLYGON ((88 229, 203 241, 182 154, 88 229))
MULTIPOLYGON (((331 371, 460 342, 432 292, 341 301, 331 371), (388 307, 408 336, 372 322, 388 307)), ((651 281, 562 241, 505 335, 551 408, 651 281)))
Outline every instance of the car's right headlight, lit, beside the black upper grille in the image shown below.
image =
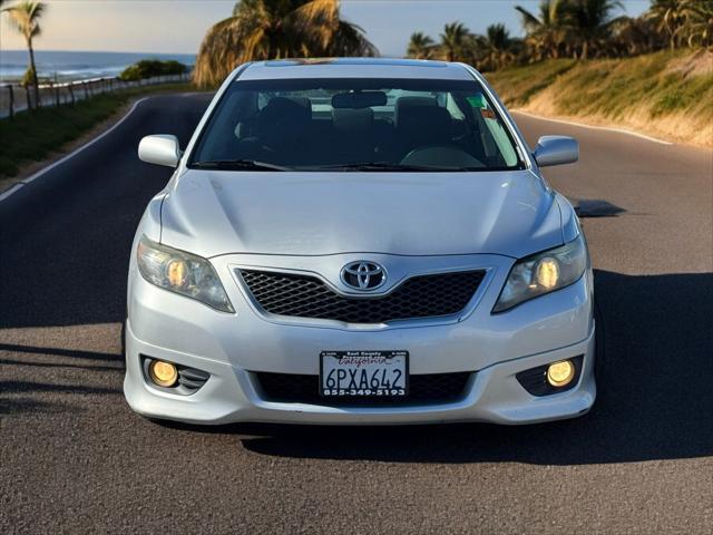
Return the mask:
POLYGON ((519 260, 492 312, 502 312, 524 301, 554 292, 579 280, 588 264, 587 246, 579 234, 561 247, 519 260))

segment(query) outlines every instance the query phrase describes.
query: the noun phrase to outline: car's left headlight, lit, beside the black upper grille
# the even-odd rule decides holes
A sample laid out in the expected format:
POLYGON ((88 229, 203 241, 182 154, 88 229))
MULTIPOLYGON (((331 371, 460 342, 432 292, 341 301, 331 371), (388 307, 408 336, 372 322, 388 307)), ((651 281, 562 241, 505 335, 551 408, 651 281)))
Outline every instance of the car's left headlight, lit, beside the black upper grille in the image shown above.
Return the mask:
POLYGON ((152 284, 195 299, 222 312, 234 312, 211 263, 141 236, 136 252, 138 271, 152 284))

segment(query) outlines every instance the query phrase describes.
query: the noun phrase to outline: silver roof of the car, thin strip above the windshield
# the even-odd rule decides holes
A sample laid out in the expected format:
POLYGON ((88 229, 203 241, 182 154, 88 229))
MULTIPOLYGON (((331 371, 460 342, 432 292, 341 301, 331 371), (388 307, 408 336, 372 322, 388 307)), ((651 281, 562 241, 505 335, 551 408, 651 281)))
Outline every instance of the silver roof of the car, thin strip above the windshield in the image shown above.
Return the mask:
POLYGON ((329 58, 256 61, 240 75, 241 80, 284 78, 430 78, 472 80, 460 64, 419 59, 329 58))

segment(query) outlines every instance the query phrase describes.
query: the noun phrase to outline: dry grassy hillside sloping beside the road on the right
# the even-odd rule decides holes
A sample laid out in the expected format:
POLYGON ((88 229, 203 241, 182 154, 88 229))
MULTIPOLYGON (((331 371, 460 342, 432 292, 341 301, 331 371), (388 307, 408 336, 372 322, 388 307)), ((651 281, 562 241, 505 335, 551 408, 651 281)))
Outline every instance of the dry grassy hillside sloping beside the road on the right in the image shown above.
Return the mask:
POLYGON ((549 60, 487 75, 512 108, 713 146, 713 52, 549 60))

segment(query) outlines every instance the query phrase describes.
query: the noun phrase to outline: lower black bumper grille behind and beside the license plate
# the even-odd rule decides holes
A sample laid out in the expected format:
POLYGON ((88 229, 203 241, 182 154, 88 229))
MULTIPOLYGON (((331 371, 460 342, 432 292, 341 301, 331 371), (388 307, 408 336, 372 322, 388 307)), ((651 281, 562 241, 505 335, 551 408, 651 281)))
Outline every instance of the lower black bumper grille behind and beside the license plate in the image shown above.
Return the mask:
POLYGON ((312 403, 330 407, 447 403, 458 400, 470 372, 409 376, 409 395, 403 398, 334 398, 320 396, 320 377, 257 372, 255 378, 268 401, 312 403))

